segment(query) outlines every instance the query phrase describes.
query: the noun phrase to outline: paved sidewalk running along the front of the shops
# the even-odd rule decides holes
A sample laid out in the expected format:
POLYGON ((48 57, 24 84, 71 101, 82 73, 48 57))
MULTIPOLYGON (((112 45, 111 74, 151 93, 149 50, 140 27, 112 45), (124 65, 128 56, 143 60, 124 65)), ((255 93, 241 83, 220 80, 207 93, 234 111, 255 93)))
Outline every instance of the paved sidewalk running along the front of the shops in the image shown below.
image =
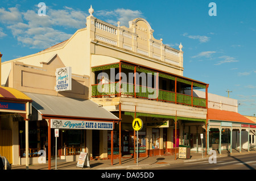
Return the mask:
MULTIPOLYGON (((227 157, 230 156, 228 150, 222 150, 221 155, 217 151, 217 158, 218 157, 227 157)), ((232 150, 231 155, 241 155, 241 154, 253 154, 256 153, 255 150, 247 151, 242 150, 242 153, 239 153, 237 150, 232 150)), ((76 162, 64 162, 62 160, 57 161, 57 170, 146 170, 155 167, 162 167, 168 166, 173 164, 179 164, 184 162, 193 162, 199 160, 207 160, 209 159, 210 155, 205 157, 205 153, 196 153, 191 151, 191 158, 190 159, 177 159, 175 160, 175 155, 170 156, 160 156, 160 157, 142 157, 138 159, 138 166, 137 162, 135 162, 134 158, 122 158, 121 165, 119 164, 119 159, 114 159, 113 165, 111 165, 111 160, 97 160, 97 161, 89 161, 90 167, 76 167, 76 162)), ((51 170, 55 170, 55 160, 53 159, 51 162, 51 170)), ((26 166, 22 165, 13 165, 12 170, 25 170, 26 166)), ((29 170, 48 170, 48 163, 46 164, 36 164, 36 165, 29 165, 29 170)))

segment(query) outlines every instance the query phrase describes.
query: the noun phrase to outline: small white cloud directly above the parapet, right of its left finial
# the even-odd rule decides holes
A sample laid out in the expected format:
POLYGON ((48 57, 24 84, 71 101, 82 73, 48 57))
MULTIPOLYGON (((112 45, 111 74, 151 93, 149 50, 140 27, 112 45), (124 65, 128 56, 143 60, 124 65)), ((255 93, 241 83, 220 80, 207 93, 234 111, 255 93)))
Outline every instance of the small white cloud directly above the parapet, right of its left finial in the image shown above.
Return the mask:
POLYGON ((143 18, 141 11, 129 9, 116 9, 113 11, 100 10, 94 13, 97 16, 104 18, 106 22, 116 26, 119 21, 121 26, 129 27, 129 21, 138 17, 143 18))

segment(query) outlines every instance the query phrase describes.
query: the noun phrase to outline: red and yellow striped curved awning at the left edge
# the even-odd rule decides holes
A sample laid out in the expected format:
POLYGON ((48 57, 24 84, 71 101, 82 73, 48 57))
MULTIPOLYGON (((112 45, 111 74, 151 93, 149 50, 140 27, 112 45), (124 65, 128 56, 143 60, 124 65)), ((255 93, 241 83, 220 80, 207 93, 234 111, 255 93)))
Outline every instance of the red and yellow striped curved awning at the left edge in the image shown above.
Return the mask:
POLYGON ((12 99, 12 100, 26 100, 28 102, 32 101, 30 97, 28 97, 23 92, 20 92, 11 87, 2 87, 0 86, 0 99, 12 99))

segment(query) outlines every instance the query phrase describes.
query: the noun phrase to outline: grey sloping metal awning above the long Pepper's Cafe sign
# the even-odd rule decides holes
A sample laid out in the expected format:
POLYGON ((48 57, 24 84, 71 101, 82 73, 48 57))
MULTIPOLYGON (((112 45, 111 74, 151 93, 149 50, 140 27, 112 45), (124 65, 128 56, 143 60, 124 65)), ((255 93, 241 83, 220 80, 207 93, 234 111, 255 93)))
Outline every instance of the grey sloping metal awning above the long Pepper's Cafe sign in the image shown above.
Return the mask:
POLYGON ((92 100, 67 98, 45 94, 24 92, 33 100, 32 107, 38 111, 40 116, 72 117, 80 119, 119 120, 117 116, 105 108, 94 103, 92 100))

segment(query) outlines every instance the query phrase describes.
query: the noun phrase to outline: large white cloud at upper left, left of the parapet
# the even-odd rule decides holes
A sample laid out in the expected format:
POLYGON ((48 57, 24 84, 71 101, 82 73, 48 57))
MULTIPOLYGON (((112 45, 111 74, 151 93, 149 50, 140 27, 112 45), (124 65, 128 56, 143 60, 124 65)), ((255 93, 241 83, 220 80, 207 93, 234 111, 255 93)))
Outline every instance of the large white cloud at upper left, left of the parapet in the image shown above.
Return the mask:
MULTIPOLYGON (((71 30, 84 28, 87 16, 85 12, 69 7, 64 7, 61 10, 47 9, 46 16, 39 16, 36 10, 25 12, 19 12, 16 8, 10 10, 15 10, 15 16, 21 20, 15 22, 14 20, 18 20, 18 18, 13 17, 12 23, 6 23, 9 24, 7 28, 11 30, 20 44, 38 49, 49 48, 69 39, 72 34, 61 31, 60 26, 61 29, 64 27, 71 30)), ((5 12, 5 14, 7 13, 5 12)))

